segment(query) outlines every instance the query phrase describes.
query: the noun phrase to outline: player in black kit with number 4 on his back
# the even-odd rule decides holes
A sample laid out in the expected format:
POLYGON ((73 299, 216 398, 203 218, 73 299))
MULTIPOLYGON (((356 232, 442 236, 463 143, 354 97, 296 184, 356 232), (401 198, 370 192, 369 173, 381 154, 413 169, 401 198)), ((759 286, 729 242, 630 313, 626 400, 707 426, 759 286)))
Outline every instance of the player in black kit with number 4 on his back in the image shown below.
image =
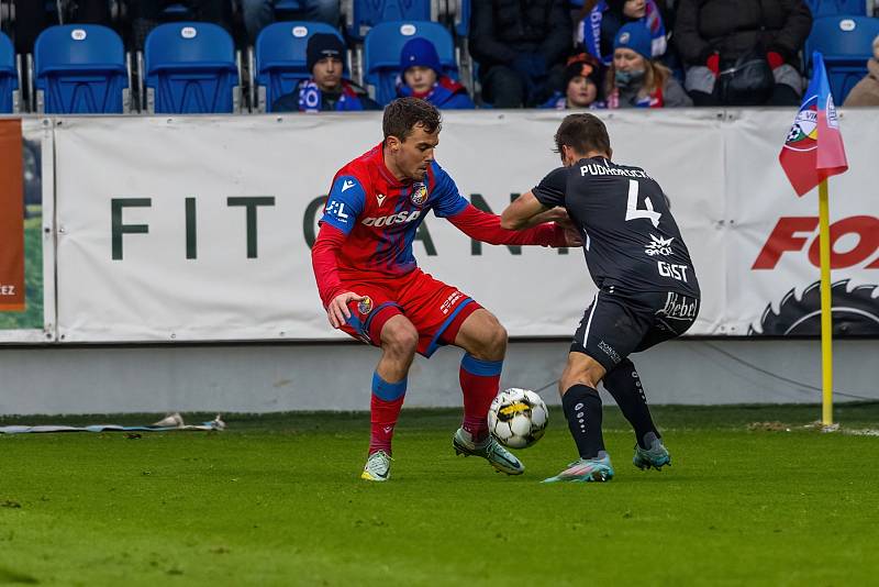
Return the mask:
POLYGON ((611 160, 608 130, 588 113, 565 118, 555 136, 564 167, 513 201, 505 229, 524 229, 564 207, 583 241, 598 286, 574 335, 558 388, 580 459, 546 481, 607 481, 613 466, 601 434, 604 383, 635 429, 635 466, 661 468, 671 457, 650 418, 628 358, 689 329, 699 312, 699 283, 663 189, 641 167, 611 160))

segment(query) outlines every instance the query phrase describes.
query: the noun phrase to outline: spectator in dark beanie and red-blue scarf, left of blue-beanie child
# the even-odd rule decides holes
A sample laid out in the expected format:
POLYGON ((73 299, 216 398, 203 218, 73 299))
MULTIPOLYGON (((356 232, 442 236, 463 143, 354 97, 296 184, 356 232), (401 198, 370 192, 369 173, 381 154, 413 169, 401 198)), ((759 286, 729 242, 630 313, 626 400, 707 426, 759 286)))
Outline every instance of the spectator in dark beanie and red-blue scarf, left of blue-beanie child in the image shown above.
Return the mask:
POLYGON ((381 110, 359 86, 342 78, 345 45, 330 33, 318 33, 309 38, 305 63, 311 79, 302 80, 296 90, 275 100, 274 112, 351 112, 381 110))

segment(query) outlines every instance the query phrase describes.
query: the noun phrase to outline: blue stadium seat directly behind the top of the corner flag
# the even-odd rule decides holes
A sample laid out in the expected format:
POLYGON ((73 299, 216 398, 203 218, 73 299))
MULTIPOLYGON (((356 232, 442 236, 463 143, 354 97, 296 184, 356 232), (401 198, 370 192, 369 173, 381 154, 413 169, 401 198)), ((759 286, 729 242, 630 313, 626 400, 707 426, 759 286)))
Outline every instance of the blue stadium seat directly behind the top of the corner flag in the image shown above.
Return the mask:
MULTIPOLYGON (((849 90, 867 75, 872 40, 879 35, 879 19, 869 16, 822 16, 814 20, 806 41, 808 58, 819 51, 824 56, 833 100, 843 103, 849 90)), ((811 64, 810 64, 811 65, 811 64)))

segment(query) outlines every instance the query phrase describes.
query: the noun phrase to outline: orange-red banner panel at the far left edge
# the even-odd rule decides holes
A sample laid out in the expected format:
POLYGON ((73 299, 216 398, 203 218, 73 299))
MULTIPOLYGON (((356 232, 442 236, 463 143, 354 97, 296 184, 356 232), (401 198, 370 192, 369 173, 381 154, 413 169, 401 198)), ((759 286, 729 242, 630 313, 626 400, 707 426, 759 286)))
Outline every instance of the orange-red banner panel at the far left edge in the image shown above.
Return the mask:
POLYGON ((21 120, 0 121, 0 312, 24 310, 21 120))

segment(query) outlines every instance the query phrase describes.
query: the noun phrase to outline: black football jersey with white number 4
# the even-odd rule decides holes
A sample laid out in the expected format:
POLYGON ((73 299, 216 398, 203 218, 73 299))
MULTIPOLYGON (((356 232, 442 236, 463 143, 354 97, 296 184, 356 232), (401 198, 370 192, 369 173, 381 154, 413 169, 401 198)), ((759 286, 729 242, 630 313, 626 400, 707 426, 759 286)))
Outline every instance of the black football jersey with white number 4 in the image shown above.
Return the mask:
POLYGON ((663 188, 641 167, 580 159, 552 171, 533 193, 544 206, 568 211, 599 288, 699 297, 690 253, 663 188))

